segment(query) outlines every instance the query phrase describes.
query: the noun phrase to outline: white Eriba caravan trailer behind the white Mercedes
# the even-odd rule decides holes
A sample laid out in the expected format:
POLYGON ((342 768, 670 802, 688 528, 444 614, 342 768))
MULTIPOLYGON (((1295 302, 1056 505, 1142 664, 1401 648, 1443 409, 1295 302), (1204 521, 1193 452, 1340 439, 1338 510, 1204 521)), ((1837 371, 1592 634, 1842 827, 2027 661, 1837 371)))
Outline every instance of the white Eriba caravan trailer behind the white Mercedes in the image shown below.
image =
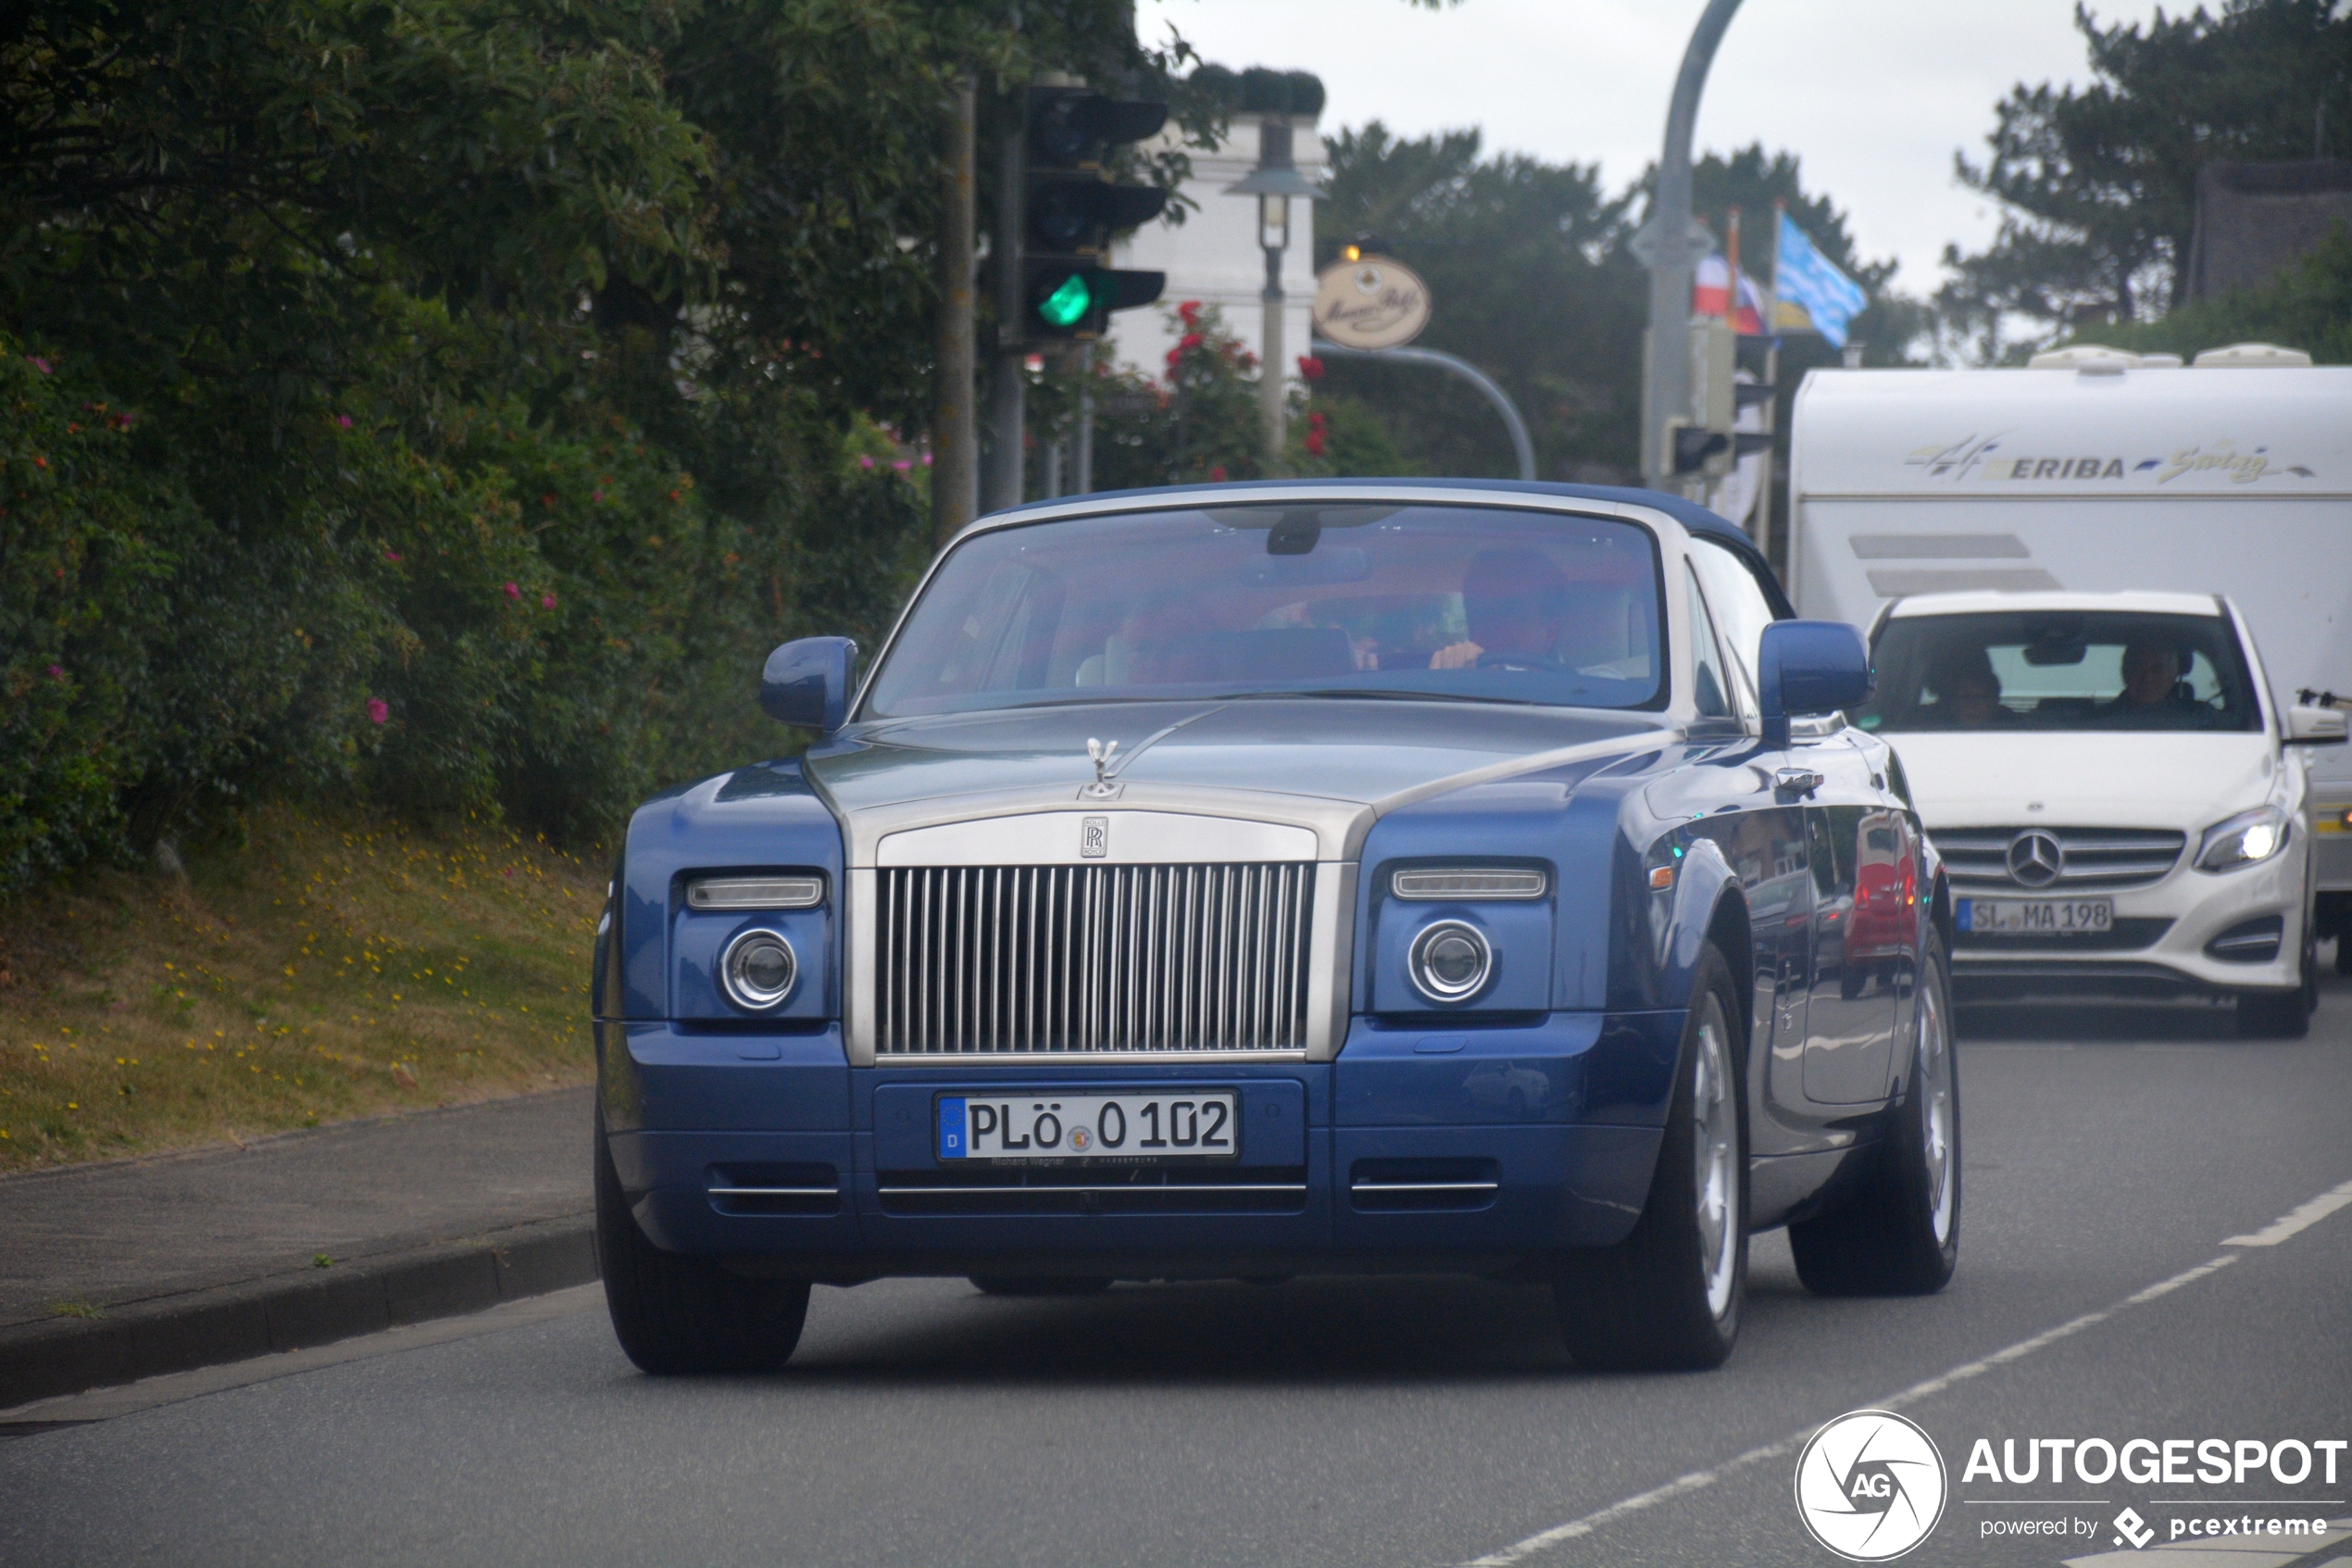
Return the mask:
MULTIPOLYGON (((1790 430, 1788 583, 1870 628, 1915 592, 2230 595, 2284 712, 2352 708, 2352 367, 2246 343, 2034 369, 1818 369, 1790 430)), ((2319 931, 2352 973, 2352 748, 2312 748, 2319 931)))

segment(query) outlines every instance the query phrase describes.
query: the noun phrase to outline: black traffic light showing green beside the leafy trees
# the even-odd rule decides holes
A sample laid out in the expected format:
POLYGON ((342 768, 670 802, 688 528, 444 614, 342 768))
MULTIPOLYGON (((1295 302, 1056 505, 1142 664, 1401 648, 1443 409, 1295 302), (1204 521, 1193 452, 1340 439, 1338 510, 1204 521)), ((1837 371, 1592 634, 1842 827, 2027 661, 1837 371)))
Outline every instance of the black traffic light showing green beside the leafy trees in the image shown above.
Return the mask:
POLYGON ((1157 186, 1122 186, 1103 158, 1167 125, 1169 106, 1091 87, 1030 87, 1023 103, 1021 320, 1014 341, 1094 339, 1112 310, 1148 306, 1164 273, 1103 266, 1110 237, 1167 207, 1157 186))

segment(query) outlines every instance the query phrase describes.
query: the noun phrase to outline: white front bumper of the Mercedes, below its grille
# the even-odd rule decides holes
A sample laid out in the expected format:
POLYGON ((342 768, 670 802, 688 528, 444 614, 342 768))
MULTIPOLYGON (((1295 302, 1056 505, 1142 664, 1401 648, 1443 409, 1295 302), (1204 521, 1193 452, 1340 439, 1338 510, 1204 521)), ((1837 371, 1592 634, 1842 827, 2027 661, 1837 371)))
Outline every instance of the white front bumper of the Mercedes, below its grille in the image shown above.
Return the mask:
MULTIPOLYGON (((2194 846, 2194 837, 2190 839, 2194 846)), ((2161 882, 2136 889, 2030 891, 1952 884, 1952 898, 2112 898, 2100 936, 1987 938, 1959 929, 1952 980, 1962 997, 2098 990, 2122 994, 2288 990, 2300 983, 2307 846, 2298 827, 2260 865, 2201 872, 2183 856, 2161 882), (2244 938, 2277 929, 2246 954, 2244 938), (2237 952, 2232 952, 2237 938, 2237 952), (2265 952, 2267 947, 2267 952, 2265 952)))

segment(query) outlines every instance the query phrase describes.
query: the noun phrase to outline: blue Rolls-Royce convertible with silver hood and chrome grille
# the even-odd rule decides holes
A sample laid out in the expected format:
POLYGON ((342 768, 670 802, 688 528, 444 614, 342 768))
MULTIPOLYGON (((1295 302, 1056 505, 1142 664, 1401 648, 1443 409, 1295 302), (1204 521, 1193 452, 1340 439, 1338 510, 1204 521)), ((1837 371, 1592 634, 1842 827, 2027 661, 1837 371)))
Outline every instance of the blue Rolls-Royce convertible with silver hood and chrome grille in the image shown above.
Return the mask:
POLYGON ((1950 898, 1849 625, 1630 489, 983 517, 816 731, 647 802, 595 959, 612 1321, 774 1368, 811 1284, 1456 1272, 1715 1366, 1748 1237, 1959 1253, 1950 898))

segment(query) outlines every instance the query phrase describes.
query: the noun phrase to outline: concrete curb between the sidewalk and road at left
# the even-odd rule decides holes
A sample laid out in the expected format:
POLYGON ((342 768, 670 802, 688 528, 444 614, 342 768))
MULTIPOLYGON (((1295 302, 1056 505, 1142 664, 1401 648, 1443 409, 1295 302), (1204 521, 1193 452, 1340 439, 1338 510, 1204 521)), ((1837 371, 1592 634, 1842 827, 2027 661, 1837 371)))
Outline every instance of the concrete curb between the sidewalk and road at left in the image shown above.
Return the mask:
POLYGON ((564 1215, 332 1269, 0 1328, 0 1408, 480 1312, 588 1284, 595 1220, 564 1215))

